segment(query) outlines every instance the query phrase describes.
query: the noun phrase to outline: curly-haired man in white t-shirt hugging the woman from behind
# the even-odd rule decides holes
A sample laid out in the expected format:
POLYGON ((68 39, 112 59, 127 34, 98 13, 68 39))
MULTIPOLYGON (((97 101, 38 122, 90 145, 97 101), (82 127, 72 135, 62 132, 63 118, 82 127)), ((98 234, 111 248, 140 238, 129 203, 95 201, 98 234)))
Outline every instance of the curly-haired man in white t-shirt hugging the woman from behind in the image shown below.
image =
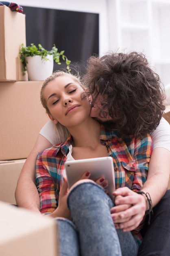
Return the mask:
MULTIPOLYGON (((133 66, 132 66, 133 67, 133 66)), ((166 229, 166 237, 168 236, 170 238, 170 221, 168 218, 169 213, 169 205, 170 205, 170 200, 169 200, 169 191, 166 192, 167 186, 168 186, 168 180, 169 180, 169 175, 170 175, 170 126, 168 122, 165 121, 165 119, 161 119, 161 115, 159 115, 159 122, 152 126, 152 129, 150 129, 150 125, 152 123, 147 121, 147 115, 152 115, 154 116, 156 113, 160 114, 160 104, 162 104, 163 99, 161 98, 161 93, 160 93, 160 81, 159 79, 155 79, 155 74, 153 71, 150 69, 148 66, 148 63, 144 56, 142 54, 106 54, 102 58, 98 57, 91 57, 89 58, 89 62, 87 65, 87 75, 90 74, 90 79, 87 83, 87 87, 89 87, 89 84, 94 81, 94 85, 96 85, 94 88, 96 88, 96 92, 100 93, 100 84, 97 83, 97 81, 103 82, 103 87, 105 89, 105 95, 110 95, 112 96, 116 93, 119 94, 119 88, 122 86, 122 81, 124 81, 124 84, 126 85, 126 79, 127 79, 127 74, 129 76, 129 79, 133 79, 134 85, 139 84, 141 90, 145 90, 145 84, 150 81, 152 82, 152 87, 151 90, 148 90, 148 94, 144 95, 143 93, 139 94, 137 97, 134 99, 129 99, 126 96, 126 86, 124 86, 124 97, 119 99, 120 104, 122 106, 126 107, 126 104, 128 102, 133 102, 134 104, 129 104, 130 110, 126 112, 126 121, 131 120, 132 118, 132 113, 139 111, 141 108, 145 108, 144 115, 141 117, 140 121, 137 122, 135 119, 133 121, 130 121, 129 123, 124 123, 124 127, 127 127, 129 129, 129 124, 133 126, 133 131, 138 132, 139 126, 138 123, 140 124, 141 121, 145 122, 146 124, 148 123, 148 131, 153 130, 152 133, 150 133, 152 139, 153 139, 153 151, 150 159, 150 164, 149 164, 149 171, 148 171, 148 177, 147 180, 142 188, 142 191, 145 193, 149 193, 150 197, 152 198, 153 202, 153 207, 154 208, 154 214, 151 216, 151 222, 150 226, 147 227, 147 232, 146 235, 144 236, 144 240, 142 242, 142 245, 139 248, 140 256, 147 256, 147 255, 152 255, 152 254, 158 254, 158 255, 166 255, 170 248, 169 248, 169 243, 166 242, 169 239, 164 238, 164 230, 166 229), (131 69, 131 66, 133 63, 136 63, 137 66, 131 69), (134 72, 136 71, 136 74, 138 76, 134 77, 134 72), (120 80, 121 83, 119 83, 119 77, 116 76, 117 79, 117 84, 118 88, 114 88, 113 84, 115 82, 115 77, 113 74, 118 74, 122 76, 122 80, 120 80), (92 76, 94 74, 94 76, 92 76), (140 75, 142 74, 142 76, 140 75), (151 74, 151 76, 150 76, 151 74), (149 76, 148 76, 149 75, 149 76), (143 83, 142 77, 146 77, 145 82, 143 83), (151 80, 148 80, 148 77, 151 80), (103 78, 105 78, 103 80, 103 78), (112 83, 107 83, 107 81, 111 81, 112 83), (98 86, 97 86, 98 85, 98 86), (143 88, 144 87, 144 88, 143 88), (143 88, 143 89, 142 89, 143 88), (153 109, 150 111, 147 106, 146 106, 146 99, 152 99, 153 95, 157 95, 157 98, 154 98, 154 101, 152 101, 152 106, 153 109), (135 105, 140 102, 140 106, 135 105), (154 109, 155 106, 155 109, 154 109), (158 110, 157 110, 158 108, 158 110), (142 120, 143 119, 143 120, 142 120), (159 125, 158 125, 159 124, 159 125), (157 126, 158 125, 158 126, 157 126), (155 129, 155 130, 154 130, 155 129), (160 164, 163 163, 163 164, 160 164), (166 193, 166 195, 163 197, 163 195, 166 193), (161 198, 163 199, 161 200, 161 198), (161 201, 160 201, 161 200, 161 201), (160 201, 160 202, 159 202, 160 201), (159 202, 159 203, 158 203, 159 202), (157 218, 157 215, 159 218, 157 218), (156 218, 155 218, 156 217, 156 218), (164 220, 166 222, 164 222, 164 220), (162 222, 161 222, 162 221, 162 222), (164 238, 164 239, 162 239, 164 238), (155 243, 156 240, 161 240, 161 243, 155 243)), ((128 81, 127 81, 128 82, 128 81)), ((129 89, 131 89, 131 83, 127 83, 129 86, 129 89)), ((137 92, 137 86, 133 88, 134 92, 137 92), (134 90, 135 89, 135 90, 134 90)), ((107 101, 107 98, 105 99, 107 101)), ((109 99, 109 103, 110 103, 109 99)), ((115 106, 110 106, 109 112, 114 110, 115 106)), ((98 102, 96 102, 96 108, 92 108, 91 115, 93 117, 98 117, 99 118, 99 112, 100 109, 102 108, 101 106, 101 99, 99 99, 98 102), (98 108, 99 107, 99 108, 98 108), (98 112, 96 112, 98 110, 98 112)), ((162 108, 163 109, 163 108, 162 108)), ((122 109, 122 113, 124 113, 124 109, 122 109)), ((138 115, 140 117, 140 115, 138 115)), ((102 119, 100 117, 100 119, 102 119)), ((117 121, 118 127, 119 128, 119 120, 117 121)), ((141 132, 143 132, 143 126, 141 132)), ((144 126, 145 129, 145 126, 144 126)), ((146 130, 145 130, 146 132, 146 130)), ((133 133, 130 130, 130 133, 133 133)), ((67 132, 64 130, 57 131, 55 130, 54 132, 54 127, 52 125, 52 121, 49 121, 46 126, 41 130, 37 141, 35 143, 35 147, 31 151, 30 155, 28 156, 26 163, 24 164, 24 167, 22 169, 22 173, 20 175, 20 179, 17 184, 17 190, 16 190, 16 201, 19 206, 31 209, 33 211, 39 212, 39 195, 37 193, 37 189, 34 184, 35 180, 35 159, 37 156, 37 153, 44 148, 47 148, 49 146, 52 146, 53 144, 62 142, 66 139, 67 137, 67 132), (65 136, 66 135, 66 136, 65 136), (28 190, 27 190, 28 189, 28 190), (34 200, 33 200, 34 198, 34 200)), ((117 197, 120 193, 119 190, 117 190, 117 197)), ((124 191, 124 193, 127 193, 124 191)), ((128 192, 129 193, 129 192, 128 192)), ((131 197, 126 197, 126 200, 131 200, 131 197)), ((119 204, 125 203, 124 200, 125 198, 119 198, 119 204)), ((117 201, 115 201, 117 203, 117 201)), ((126 203, 129 203, 126 202, 126 203)), ((126 221, 125 219, 121 218, 121 220, 118 222, 122 222, 124 224, 124 227, 122 227, 124 230, 132 230, 135 229, 136 227, 136 218, 140 216, 141 213, 141 208, 143 205, 139 203, 139 195, 136 194, 136 197, 133 197, 133 206, 131 207, 131 212, 129 211, 124 211, 124 214, 127 216, 131 216, 129 221, 126 221)), ((118 210, 118 209, 117 209, 118 210)), ((116 216, 116 213, 112 213, 112 216, 115 219, 118 217, 116 216)), ((140 217, 139 217, 140 218, 140 217)), ((117 225, 118 225, 117 223, 117 225)), ((119 226, 119 225, 118 225, 119 226)))

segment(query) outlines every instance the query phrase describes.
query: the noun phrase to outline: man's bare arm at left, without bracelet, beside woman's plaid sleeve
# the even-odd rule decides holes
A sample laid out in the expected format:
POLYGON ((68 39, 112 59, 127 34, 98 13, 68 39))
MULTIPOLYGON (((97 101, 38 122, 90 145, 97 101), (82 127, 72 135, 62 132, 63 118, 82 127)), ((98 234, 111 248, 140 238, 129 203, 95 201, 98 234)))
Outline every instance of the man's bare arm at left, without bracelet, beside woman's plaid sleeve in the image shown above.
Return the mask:
POLYGON ((39 134, 33 150, 26 159, 17 182, 15 199, 17 205, 20 207, 39 212, 39 194, 35 186, 35 162, 37 154, 49 146, 52 146, 52 144, 39 134))

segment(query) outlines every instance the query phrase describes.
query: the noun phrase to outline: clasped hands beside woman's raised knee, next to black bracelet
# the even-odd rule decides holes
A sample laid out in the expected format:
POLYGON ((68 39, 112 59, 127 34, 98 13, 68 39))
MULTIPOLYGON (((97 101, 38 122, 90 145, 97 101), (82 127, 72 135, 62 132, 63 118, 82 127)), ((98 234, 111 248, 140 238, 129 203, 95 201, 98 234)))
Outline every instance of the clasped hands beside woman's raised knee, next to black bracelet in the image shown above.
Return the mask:
POLYGON ((111 208, 111 217, 116 228, 131 231, 138 227, 147 209, 145 197, 127 187, 117 189, 113 195, 116 206, 111 208))

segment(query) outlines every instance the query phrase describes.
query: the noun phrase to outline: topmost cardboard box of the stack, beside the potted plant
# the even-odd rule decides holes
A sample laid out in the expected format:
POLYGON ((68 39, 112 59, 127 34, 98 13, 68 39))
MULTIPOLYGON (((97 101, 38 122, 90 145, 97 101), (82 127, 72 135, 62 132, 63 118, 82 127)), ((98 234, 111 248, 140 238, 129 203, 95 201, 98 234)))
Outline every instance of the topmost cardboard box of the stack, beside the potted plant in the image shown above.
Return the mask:
POLYGON ((0 81, 26 81, 18 61, 20 45, 26 45, 25 14, 0 6, 0 81))

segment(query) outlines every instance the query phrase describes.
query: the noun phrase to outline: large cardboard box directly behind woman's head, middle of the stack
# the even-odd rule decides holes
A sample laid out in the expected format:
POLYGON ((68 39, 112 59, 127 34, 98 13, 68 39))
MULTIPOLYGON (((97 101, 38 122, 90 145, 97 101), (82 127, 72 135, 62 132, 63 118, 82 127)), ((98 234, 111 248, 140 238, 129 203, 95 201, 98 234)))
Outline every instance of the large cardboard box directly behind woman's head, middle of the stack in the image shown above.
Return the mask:
POLYGON ((49 120, 40 102, 42 83, 0 83, 0 160, 27 158, 49 120))

